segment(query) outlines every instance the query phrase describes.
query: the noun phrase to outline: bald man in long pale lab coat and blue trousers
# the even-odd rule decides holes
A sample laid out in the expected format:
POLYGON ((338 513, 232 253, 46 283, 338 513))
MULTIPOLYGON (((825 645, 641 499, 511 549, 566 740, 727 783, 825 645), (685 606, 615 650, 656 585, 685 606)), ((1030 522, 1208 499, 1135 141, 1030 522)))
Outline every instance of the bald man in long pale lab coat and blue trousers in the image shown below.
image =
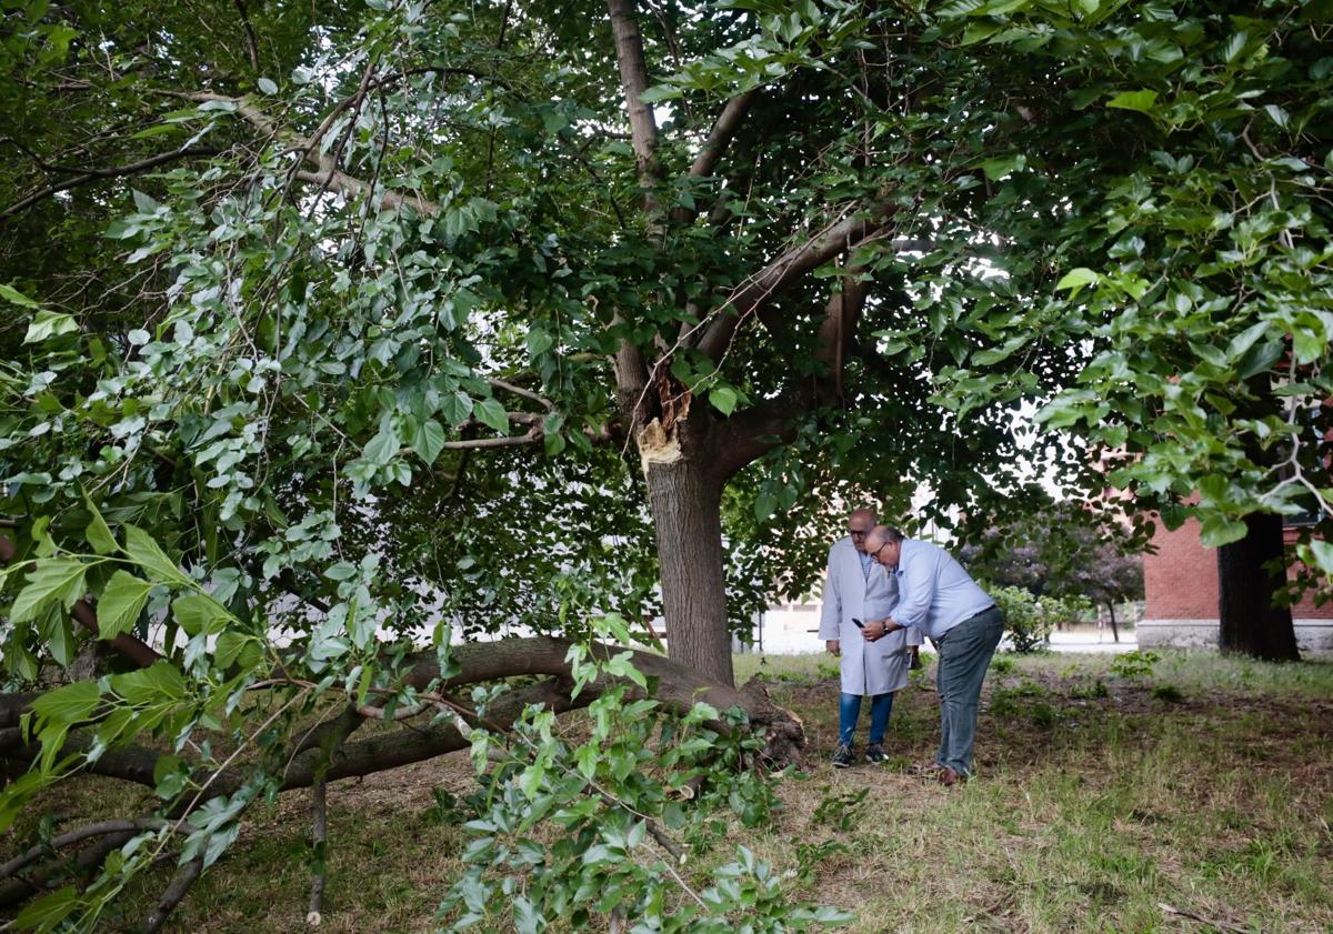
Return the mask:
POLYGON ((865 540, 874 521, 874 512, 869 509, 852 510, 848 537, 829 549, 820 638, 830 653, 841 658, 842 668, 838 746, 833 754, 836 769, 845 769, 854 761, 854 733, 862 697, 870 698, 870 742, 865 759, 882 762, 888 758, 882 742, 893 711, 893 692, 906 686, 910 646, 921 644, 917 630, 901 630, 866 641, 853 622, 882 618, 892 613, 898 600, 896 578, 865 553, 865 540))

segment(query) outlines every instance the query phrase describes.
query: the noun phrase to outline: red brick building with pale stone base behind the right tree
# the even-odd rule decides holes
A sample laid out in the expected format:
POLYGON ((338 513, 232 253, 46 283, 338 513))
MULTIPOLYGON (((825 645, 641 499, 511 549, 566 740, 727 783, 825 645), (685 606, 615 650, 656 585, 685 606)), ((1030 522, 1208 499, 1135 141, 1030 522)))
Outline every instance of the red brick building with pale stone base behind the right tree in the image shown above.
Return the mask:
MULTIPOLYGON (((1288 544, 1296 530, 1288 529, 1288 544)), ((1190 520, 1174 532, 1158 524, 1157 554, 1144 556, 1144 618, 1138 645, 1217 645, 1217 550, 1198 540, 1190 520)), ((1314 606, 1306 598, 1292 608, 1296 642, 1302 653, 1333 653, 1333 602, 1314 606)))

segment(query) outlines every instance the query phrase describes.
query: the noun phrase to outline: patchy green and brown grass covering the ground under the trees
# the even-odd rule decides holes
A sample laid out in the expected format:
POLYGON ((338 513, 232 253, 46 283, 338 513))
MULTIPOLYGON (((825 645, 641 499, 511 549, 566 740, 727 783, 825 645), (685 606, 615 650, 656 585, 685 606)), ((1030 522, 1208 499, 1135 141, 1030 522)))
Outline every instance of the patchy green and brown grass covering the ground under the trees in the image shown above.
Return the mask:
MULTIPOLYGON (((1161 653, 1121 677, 1109 657, 1006 656, 986 684, 977 781, 956 789, 906 771, 937 738, 928 677, 894 702, 892 761, 834 771, 836 669, 818 656, 740 656, 736 669, 762 672, 804 719, 812 767, 780 782, 770 826, 732 842, 778 870, 822 847, 798 894, 852 909, 844 930, 1333 929, 1333 665, 1161 653)), ((321 931, 433 930, 465 843, 433 790, 461 793, 469 775, 455 755, 331 787, 321 931)), ((124 813, 91 787, 64 787, 63 810, 124 813)), ((293 794, 261 807, 169 929, 307 929, 305 806, 293 794)), ((718 850, 694 870, 729 858, 718 850)))

